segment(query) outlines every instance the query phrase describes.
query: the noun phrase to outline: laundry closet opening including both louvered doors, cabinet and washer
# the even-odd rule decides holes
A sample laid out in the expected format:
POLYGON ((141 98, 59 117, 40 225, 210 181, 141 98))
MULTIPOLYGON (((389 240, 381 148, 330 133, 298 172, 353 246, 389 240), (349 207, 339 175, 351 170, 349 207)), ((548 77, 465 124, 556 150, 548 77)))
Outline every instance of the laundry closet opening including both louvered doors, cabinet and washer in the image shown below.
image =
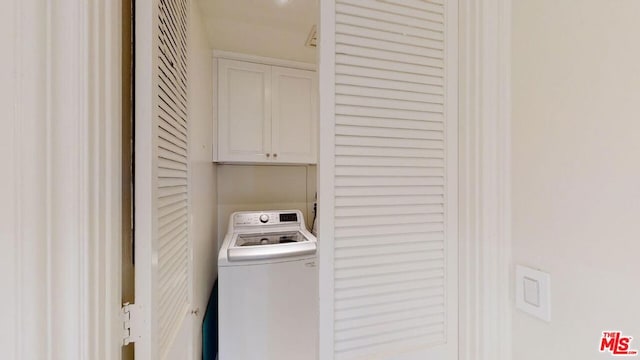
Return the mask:
POLYGON ((133 18, 135 357, 455 358, 456 2, 133 18))

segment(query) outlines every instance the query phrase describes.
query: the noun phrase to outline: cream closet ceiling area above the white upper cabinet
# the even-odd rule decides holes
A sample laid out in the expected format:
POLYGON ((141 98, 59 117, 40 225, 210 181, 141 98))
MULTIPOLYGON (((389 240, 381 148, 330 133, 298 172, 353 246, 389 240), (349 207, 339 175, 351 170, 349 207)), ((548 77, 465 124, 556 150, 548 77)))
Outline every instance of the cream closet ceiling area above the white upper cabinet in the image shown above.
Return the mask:
POLYGON ((315 62, 305 41, 318 0, 198 0, 214 49, 315 62))

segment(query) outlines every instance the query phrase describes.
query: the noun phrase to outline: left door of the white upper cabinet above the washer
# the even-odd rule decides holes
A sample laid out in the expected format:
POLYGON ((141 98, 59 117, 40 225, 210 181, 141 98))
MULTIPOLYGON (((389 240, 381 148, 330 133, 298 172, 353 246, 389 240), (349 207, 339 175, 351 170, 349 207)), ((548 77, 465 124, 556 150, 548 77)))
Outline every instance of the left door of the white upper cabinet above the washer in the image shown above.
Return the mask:
POLYGON ((271 157, 271 67, 218 60, 218 154, 220 161, 271 157))

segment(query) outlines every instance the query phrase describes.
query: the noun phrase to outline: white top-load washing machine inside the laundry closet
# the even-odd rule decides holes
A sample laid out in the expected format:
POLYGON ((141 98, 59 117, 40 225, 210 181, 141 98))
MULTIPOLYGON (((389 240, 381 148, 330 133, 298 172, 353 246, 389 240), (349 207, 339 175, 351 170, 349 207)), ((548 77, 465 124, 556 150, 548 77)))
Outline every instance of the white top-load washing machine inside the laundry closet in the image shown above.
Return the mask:
POLYGON ((218 256, 219 360, 315 360, 316 238, 299 210, 236 212, 218 256))

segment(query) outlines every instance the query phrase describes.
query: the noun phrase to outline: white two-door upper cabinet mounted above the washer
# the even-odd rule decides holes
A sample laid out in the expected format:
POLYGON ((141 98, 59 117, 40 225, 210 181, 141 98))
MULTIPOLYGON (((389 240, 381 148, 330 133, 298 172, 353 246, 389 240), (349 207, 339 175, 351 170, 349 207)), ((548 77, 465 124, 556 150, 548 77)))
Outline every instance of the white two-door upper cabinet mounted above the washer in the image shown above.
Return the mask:
POLYGON ((218 161, 316 163, 314 71, 218 59, 218 161))

